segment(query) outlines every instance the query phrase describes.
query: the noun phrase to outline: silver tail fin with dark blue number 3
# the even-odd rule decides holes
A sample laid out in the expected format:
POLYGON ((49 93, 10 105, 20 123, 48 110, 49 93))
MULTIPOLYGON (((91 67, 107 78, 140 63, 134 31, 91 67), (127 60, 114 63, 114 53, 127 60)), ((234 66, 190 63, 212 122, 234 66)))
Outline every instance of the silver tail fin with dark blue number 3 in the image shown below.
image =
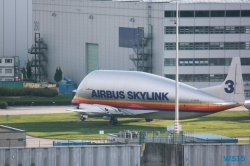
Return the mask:
POLYGON ((244 103, 245 95, 244 95, 240 57, 232 58, 227 78, 222 84, 217 86, 202 88, 200 90, 227 101, 244 103))

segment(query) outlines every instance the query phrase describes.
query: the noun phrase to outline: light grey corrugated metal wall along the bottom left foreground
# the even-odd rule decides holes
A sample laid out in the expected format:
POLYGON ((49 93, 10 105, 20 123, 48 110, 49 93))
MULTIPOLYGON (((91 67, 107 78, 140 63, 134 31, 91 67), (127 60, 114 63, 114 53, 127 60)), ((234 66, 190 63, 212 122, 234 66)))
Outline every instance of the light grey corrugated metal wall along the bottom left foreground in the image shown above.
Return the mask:
POLYGON ((139 145, 0 149, 4 166, 139 166, 139 145))

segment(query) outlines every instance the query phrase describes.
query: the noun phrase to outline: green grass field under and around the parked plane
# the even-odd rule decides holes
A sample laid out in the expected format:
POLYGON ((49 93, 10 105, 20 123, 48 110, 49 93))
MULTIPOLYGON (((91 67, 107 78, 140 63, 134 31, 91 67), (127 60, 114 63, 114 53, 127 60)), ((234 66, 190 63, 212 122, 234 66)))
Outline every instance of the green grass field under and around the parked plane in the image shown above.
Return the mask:
MULTIPOLYGON (((144 119, 119 118, 116 126, 111 126, 102 118, 89 118, 81 122, 76 113, 12 115, 0 116, 0 123, 26 130, 28 135, 53 139, 100 139, 99 130, 117 133, 124 130, 165 131, 173 120, 145 122, 144 119)), ((195 133, 214 133, 230 137, 250 137, 250 116, 248 111, 224 111, 201 118, 181 120, 184 131, 195 133)), ((106 138, 106 135, 103 135, 106 138)))

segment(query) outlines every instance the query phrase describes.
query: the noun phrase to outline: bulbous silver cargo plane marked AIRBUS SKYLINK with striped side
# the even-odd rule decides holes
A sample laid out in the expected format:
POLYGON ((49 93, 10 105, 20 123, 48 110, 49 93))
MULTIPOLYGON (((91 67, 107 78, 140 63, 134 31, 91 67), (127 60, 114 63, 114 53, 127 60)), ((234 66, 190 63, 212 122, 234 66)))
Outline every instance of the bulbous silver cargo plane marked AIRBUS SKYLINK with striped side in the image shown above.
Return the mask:
MULTIPOLYGON (((197 89, 179 83, 179 118, 209 115, 244 104, 240 58, 232 59, 225 81, 197 89)), ((80 83, 72 100, 81 120, 104 117, 111 125, 117 117, 175 119, 175 81, 138 71, 96 70, 80 83)))

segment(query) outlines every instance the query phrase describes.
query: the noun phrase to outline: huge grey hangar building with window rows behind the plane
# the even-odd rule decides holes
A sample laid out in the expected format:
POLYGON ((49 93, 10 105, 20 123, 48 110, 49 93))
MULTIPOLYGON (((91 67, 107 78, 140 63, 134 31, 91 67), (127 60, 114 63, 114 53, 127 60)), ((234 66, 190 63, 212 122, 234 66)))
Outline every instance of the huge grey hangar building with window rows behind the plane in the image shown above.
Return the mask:
MULTIPOLYGON (((176 3, 169 2, 33 0, 33 33, 47 44, 51 80, 59 66, 76 84, 98 69, 137 69, 174 79, 175 11, 176 3), (137 44, 142 36, 143 46, 137 44)), ((239 56, 249 94, 249 1, 183 1, 179 11, 180 81, 197 88, 218 85, 231 58, 239 56)))

